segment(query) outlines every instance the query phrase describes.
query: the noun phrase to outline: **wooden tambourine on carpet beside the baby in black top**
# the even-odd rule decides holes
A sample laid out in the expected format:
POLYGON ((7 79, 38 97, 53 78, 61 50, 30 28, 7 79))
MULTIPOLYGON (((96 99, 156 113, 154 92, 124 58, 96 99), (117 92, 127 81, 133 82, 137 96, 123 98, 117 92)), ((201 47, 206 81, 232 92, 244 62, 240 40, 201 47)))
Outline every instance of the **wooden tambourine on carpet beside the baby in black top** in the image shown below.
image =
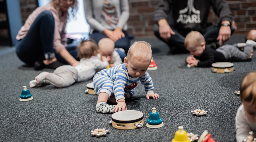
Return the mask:
POLYGON ((212 64, 213 73, 229 73, 234 71, 234 64, 231 62, 216 62, 212 64))

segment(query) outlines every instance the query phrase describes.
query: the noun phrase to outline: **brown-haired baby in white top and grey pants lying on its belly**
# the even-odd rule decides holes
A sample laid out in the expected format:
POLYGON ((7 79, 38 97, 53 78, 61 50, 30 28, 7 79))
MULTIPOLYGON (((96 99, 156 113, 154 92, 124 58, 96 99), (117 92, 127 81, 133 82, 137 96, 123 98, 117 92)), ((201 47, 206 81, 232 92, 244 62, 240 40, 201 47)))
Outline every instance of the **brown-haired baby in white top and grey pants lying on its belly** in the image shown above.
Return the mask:
POLYGON ((94 40, 83 40, 78 48, 78 56, 81 59, 79 65, 63 65, 55 69, 53 73, 42 72, 29 82, 30 87, 39 87, 42 84, 52 84, 62 88, 72 85, 75 82, 91 79, 96 72, 106 69, 109 56, 97 57, 98 47, 94 40))

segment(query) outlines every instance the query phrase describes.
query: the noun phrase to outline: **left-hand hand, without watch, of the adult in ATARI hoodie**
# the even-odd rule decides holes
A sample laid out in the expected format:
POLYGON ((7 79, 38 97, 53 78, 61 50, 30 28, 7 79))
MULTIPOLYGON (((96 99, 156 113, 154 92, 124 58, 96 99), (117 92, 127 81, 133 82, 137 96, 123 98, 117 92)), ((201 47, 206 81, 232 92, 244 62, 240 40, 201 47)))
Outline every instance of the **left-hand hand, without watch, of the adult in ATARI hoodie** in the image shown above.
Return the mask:
POLYGON ((171 35, 175 35, 175 32, 172 31, 171 27, 165 19, 159 20, 158 25, 160 37, 165 41, 168 41, 171 38, 171 35))

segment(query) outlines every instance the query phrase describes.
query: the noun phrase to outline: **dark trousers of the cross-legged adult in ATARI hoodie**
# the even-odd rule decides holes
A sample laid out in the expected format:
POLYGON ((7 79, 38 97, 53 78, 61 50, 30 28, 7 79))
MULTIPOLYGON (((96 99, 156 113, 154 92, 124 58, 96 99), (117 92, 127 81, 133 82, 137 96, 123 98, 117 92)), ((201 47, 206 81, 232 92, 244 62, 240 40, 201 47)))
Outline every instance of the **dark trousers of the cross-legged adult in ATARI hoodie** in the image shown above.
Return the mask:
MULTIPOLYGON (((172 26, 171 26, 171 29, 173 32, 175 32, 175 35, 171 35, 171 39, 169 39, 166 42, 163 38, 160 37, 158 24, 154 25, 154 33, 158 39, 167 43, 170 48, 175 47, 177 50, 181 52, 188 53, 188 50, 186 50, 186 48, 184 47, 184 40, 188 32, 185 32, 185 30, 177 29, 172 26)), ((217 42, 216 39, 219 35, 219 31, 220 31, 220 26, 218 25, 211 25, 203 29, 201 34, 204 36, 206 44, 217 42)), ((231 28, 231 35, 234 33, 234 31, 235 30, 231 28)))

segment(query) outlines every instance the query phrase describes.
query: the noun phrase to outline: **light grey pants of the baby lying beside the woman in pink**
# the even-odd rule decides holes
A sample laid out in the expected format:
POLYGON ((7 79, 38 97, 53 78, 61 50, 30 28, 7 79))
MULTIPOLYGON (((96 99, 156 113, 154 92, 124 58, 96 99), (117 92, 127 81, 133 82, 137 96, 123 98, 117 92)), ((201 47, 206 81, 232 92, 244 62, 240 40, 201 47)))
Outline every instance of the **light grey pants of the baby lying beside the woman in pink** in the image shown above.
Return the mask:
POLYGON ((71 65, 62 65, 55 69, 53 73, 45 76, 46 83, 62 88, 72 85, 77 81, 77 69, 71 65))

